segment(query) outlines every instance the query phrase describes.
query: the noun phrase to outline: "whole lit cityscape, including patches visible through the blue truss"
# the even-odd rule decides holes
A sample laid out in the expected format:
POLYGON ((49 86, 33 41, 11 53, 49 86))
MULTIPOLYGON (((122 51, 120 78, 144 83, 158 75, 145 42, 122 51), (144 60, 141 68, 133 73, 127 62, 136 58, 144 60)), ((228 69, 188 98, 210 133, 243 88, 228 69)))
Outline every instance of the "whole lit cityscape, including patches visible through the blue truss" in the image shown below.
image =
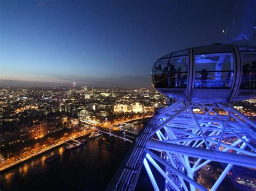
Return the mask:
MULTIPOLYGON (((158 108, 175 101, 153 89, 89 88, 76 87, 75 83, 72 87, 2 87, 0 96, 1 171, 75 138, 90 136, 97 131, 95 126, 119 132, 120 126, 145 121, 158 108)), ((254 118, 255 102, 234 105, 254 118)), ((210 174, 214 181, 214 174, 217 177, 221 170, 213 168, 202 168, 198 181, 207 185, 211 181, 205 178, 210 174)), ((242 181, 246 178, 241 179, 239 173, 235 177, 237 183, 255 188, 253 179, 242 181)))

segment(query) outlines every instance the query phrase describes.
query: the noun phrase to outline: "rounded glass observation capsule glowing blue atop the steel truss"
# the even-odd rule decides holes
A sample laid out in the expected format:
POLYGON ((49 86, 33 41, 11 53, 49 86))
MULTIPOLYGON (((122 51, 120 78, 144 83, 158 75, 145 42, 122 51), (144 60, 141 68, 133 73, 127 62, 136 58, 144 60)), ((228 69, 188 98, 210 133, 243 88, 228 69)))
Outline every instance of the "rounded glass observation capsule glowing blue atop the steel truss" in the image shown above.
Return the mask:
POLYGON ((178 100, 230 103, 256 97, 256 47, 213 44, 164 55, 151 81, 178 100))

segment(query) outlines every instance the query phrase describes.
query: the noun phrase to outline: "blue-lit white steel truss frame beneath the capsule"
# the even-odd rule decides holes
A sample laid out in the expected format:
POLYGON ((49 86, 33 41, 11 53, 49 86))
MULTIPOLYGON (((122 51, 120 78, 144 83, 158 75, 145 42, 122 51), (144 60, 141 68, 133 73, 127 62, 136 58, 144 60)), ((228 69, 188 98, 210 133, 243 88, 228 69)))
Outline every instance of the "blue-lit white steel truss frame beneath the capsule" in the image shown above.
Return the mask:
POLYGON ((154 190, 152 166, 164 177, 165 190, 207 190, 195 173, 212 161, 227 165, 211 190, 233 165, 256 169, 256 124, 232 105, 177 101, 157 115, 143 159, 154 190))

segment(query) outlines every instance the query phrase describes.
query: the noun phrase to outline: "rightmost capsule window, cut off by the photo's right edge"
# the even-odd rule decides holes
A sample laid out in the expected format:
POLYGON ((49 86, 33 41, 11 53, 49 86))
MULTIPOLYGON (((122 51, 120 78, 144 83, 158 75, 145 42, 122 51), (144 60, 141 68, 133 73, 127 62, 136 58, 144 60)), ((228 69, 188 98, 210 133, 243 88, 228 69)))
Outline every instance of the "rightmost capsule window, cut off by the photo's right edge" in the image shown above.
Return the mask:
POLYGON ((242 52, 240 89, 256 89, 256 52, 242 52))

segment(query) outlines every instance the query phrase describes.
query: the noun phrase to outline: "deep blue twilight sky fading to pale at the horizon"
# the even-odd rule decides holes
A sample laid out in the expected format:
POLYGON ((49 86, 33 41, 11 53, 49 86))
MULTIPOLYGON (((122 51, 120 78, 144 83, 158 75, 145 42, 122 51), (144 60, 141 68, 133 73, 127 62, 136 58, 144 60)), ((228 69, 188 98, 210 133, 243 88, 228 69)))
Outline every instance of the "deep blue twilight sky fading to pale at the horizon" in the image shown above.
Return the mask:
POLYGON ((2 0, 0 86, 150 87, 160 56, 239 34, 241 6, 246 1, 2 0))

